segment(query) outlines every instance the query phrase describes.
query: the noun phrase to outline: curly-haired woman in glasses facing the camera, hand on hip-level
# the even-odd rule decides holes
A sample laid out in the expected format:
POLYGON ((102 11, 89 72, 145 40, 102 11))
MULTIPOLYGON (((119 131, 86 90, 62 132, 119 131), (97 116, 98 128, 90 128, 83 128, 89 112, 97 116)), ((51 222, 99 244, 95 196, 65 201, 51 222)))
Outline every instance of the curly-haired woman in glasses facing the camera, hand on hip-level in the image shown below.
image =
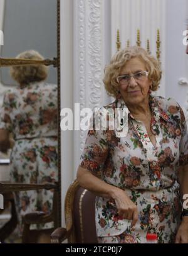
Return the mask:
POLYGON ((188 193, 187 128, 174 99, 152 95, 161 73, 140 47, 120 50, 105 69, 105 88, 116 100, 104 108, 114 115, 127 109, 121 125, 128 130, 119 136, 109 122, 106 130, 93 125, 77 172, 80 185, 97 195, 100 243, 145 243, 147 233, 156 233, 159 243, 188 243, 186 211, 180 223, 180 192, 188 193))

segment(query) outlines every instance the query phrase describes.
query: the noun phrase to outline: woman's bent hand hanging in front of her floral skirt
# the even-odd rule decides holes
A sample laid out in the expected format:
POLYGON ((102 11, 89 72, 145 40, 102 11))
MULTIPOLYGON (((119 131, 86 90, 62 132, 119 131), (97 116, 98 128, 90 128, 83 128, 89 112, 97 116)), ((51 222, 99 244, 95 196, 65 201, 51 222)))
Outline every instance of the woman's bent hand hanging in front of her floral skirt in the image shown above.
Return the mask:
POLYGON ((131 227, 135 226, 138 221, 138 209, 137 206, 127 196, 122 189, 114 189, 112 192, 112 198, 115 200, 118 214, 124 219, 132 220, 131 227))

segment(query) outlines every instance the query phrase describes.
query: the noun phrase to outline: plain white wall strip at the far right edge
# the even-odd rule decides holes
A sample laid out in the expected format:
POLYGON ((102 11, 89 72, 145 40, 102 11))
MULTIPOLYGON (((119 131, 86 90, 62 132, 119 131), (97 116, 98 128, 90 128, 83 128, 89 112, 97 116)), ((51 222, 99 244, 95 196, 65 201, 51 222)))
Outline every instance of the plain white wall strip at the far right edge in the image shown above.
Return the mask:
POLYGON ((185 19, 188 18, 187 0, 166 0, 165 87, 166 97, 174 97, 184 107, 187 84, 178 84, 180 77, 188 79, 188 55, 182 43, 185 19))

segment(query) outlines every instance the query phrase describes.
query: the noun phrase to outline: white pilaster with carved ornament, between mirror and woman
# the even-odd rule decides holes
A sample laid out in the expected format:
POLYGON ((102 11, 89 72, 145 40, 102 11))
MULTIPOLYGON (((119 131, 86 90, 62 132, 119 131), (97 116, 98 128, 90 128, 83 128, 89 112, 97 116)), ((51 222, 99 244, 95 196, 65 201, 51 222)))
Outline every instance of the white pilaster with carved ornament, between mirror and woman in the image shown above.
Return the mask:
MULTIPOLYGON (((103 0, 74 1, 74 103, 80 103, 80 111, 99 107, 107 101, 102 82, 105 65, 104 8, 103 0)), ((85 136, 86 131, 74 131, 75 174, 85 136)))

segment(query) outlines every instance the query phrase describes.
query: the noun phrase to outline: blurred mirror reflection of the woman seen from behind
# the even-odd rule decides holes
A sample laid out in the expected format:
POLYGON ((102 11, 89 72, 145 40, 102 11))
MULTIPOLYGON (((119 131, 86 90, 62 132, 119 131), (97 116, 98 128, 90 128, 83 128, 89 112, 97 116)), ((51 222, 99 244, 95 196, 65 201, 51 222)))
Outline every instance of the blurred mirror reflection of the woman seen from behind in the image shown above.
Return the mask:
MULTIPOLYGON (((23 52, 17 58, 43 60, 34 50, 23 52)), ((47 75, 48 68, 44 65, 11 67, 11 76, 19 86, 4 96, 0 147, 3 152, 9 148, 9 133, 13 133, 12 182, 57 181, 57 86, 44 82, 47 75)), ((19 221, 28 213, 28 207, 29 211, 50 211, 52 200, 53 191, 19 192, 16 195, 19 221), (23 203, 23 198, 27 198, 27 203, 23 203)), ((52 225, 47 223, 37 228, 52 228, 52 225)), ((21 225, 19 231, 22 231, 21 225)))

